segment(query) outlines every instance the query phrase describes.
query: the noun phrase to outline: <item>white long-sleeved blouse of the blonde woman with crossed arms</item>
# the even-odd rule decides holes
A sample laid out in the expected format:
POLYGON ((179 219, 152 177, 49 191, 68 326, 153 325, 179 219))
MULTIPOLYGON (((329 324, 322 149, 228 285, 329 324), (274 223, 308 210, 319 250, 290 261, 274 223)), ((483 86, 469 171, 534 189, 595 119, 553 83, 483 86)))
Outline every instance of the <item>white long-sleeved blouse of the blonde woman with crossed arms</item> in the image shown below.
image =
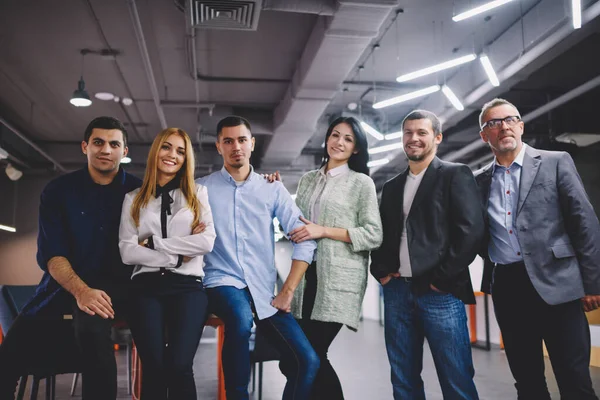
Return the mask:
POLYGON ((140 189, 125 195, 119 227, 119 250, 123 263, 135 265, 132 277, 143 272, 157 272, 158 268, 168 268, 182 275, 204 276, 203 256, 212 251, 216 233, 208 191, 199 184, 196 184, 196 189, 200 202, 200 222, 204 222, 206 229, 192 235, 194 214, 188 208, 181 190, 175 189, 169 192, 173 203, 171 215, 167 215, 166 238, 162 237, 160 226, 161 197, 150 199, 148 205, 140 210, 140 224, 136 227, 131 217, 131 206, 140 189), (154 249, 139 244, 150 236, 154 241, 154 249), (192 259, 175 268, 180 255, 192 259))

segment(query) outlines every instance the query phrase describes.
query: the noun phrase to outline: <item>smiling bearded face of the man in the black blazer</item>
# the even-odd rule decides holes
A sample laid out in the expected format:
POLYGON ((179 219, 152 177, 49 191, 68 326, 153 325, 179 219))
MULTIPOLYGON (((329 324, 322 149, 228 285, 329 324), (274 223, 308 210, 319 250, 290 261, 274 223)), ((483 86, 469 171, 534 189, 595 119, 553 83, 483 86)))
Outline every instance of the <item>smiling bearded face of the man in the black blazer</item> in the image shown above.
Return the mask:
POLYGON ((402 132, 404 152, 410 161, 419 162, 433 157, 442 142, 442 134, 433 132, 433 125, 427 118, 405 121, 402 132))

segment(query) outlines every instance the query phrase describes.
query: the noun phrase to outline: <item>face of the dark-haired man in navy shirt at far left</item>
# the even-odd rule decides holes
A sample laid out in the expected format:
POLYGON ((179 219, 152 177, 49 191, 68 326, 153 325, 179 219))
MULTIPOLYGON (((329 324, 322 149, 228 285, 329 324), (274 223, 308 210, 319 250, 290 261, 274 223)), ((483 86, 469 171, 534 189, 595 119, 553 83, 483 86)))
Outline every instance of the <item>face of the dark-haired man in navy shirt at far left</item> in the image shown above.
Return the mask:
POLYGON ((116 173, 128 151, 123 132, 100 128, 94 128, 88 141, 81 142, 81 150, 87 156, 88 168, 101 175, 116 173))

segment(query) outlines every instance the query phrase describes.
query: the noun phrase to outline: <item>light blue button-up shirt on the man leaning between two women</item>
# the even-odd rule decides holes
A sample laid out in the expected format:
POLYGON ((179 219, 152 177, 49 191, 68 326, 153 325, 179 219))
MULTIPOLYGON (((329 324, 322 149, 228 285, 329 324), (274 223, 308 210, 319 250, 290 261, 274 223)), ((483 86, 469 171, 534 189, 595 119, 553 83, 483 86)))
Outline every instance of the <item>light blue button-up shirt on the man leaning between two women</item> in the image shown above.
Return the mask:
MULTIPOLYGON (((248 287, 259 319, 272 316, 277 281, 273 218, 286 234, 304 225, 302 213, 281 182, 269 183, 251 170, 236 184, 225 167, 197 179, 208 189, 217 238, 213 251, 204 256, 206 287, 248 287)), ((294 243, 292 259, 310 264, 317 248, 314 240, 294 243)))

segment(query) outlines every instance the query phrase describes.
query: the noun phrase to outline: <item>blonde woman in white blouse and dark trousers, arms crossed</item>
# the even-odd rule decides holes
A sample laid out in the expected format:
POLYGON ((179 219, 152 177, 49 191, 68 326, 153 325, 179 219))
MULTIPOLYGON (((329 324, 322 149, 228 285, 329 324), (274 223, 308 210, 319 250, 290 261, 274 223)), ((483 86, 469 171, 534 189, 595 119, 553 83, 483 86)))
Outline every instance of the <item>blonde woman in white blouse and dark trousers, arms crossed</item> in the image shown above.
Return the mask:
POLYGON ((183 130, 154 139, 142 187, 125 196, 119 240, 123 262, 135 265, 129 323, 144 371, 142 398, 196 399, 192 366, 208 304, 203 255, 215 230, 183 130))

